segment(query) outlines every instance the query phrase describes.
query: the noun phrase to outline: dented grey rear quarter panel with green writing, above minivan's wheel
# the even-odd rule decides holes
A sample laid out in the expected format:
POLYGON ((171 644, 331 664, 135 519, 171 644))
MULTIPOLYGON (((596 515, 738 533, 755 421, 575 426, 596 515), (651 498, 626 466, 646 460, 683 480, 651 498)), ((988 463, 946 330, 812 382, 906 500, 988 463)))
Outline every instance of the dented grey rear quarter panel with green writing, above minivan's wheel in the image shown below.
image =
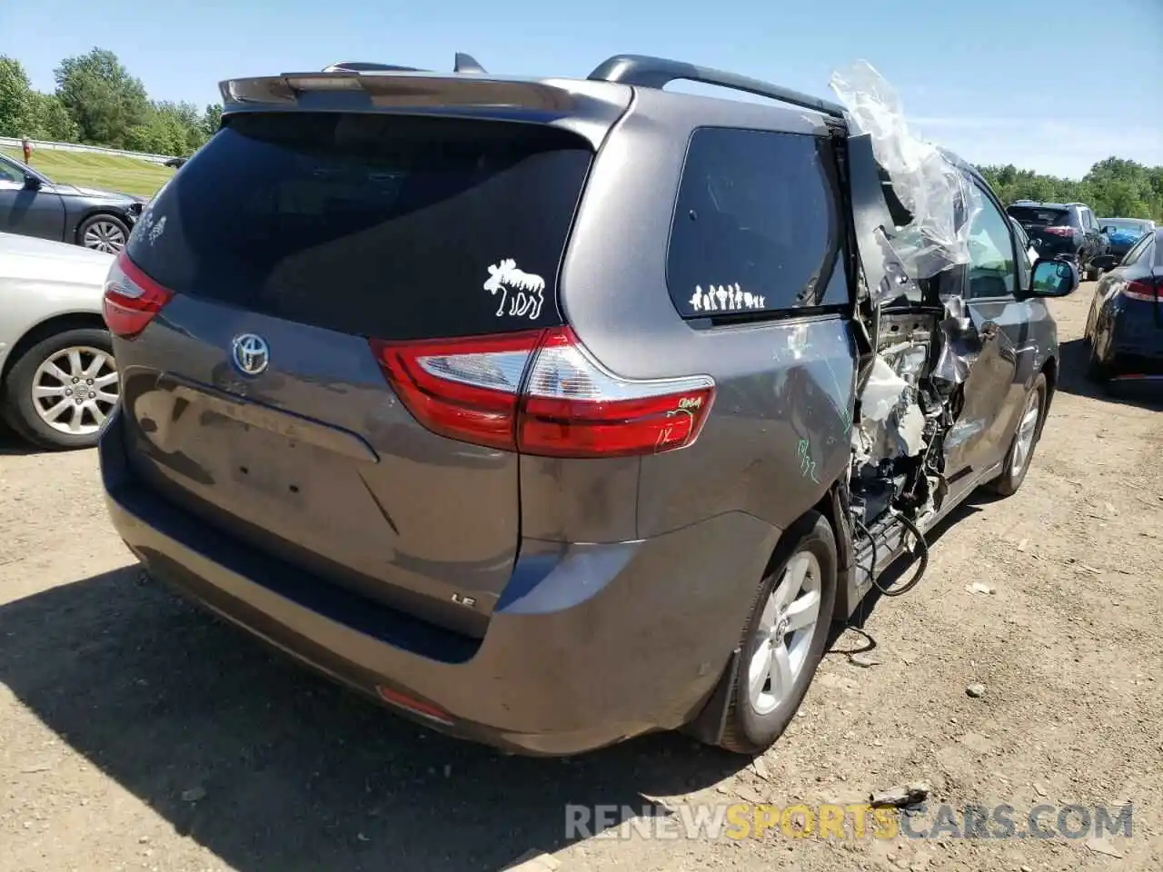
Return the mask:
POLYGON ((782 531, 847 469, 856 387, 851 323, 830 316, 727 329, 747 351, 719 370, 699 441, 642 460, 643 537, 726 512, 747 512, 782 531))

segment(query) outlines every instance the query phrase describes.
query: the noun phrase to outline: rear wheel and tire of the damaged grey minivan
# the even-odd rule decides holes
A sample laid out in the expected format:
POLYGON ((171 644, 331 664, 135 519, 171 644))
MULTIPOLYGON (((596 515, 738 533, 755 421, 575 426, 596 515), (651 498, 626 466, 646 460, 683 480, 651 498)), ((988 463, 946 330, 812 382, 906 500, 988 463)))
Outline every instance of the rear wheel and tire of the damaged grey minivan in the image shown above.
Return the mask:
MULTIPOLYGON (((719 744, 735 753, 763 753, 791 723, 823 657, 836 603, 836 537, 822 515, 809 512, 789 528, 777 555, 775 570, 759 584, 751 603, 740 642, 741 656, 736 669, 723 678, 732 682, 732 687, 727 721, 719 744), (778 608, 773 596, 779 589, 779 582, 785 579, 794 586, 795 574, 801 569, 807 570, 807 576, 801 576, 804 581, 798 591, 793 591, 791 605, 794 607, 804 603, 815 594, 815 621, 809 628, 798 632, 790 630, 787 636, 776 629, 779 632, 778 641, 772 641, 772 626, 780 628, 789 616, 789 613, 780 614, 777 610, 775 620, 771 620, 771 609, 778 608), (789 665, 791 680, 783 693, 752 693, 749 673, 761 645, 785 652, 786 659, 769 656, 772 670, 777 669, 775 664, 780 660, 789 665)), ((793 608, 790 614, 805 614, 804 606, 800 605, 798 610, 793 608)), ((765 686, 775 689, 773 685, 765 686)))

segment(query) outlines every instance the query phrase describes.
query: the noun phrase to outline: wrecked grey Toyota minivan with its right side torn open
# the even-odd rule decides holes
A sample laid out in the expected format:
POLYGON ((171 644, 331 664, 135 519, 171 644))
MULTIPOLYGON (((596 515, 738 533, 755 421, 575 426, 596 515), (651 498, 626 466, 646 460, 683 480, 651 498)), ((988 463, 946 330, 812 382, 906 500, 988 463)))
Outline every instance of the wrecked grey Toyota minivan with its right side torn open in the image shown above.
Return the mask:
POLYGON ((762 750, 830 623, 1026 476, 1041 298, 1077 273, 952 156, 972 258, 914 280, 870 136, 775 85, 621 56, 222 90, 106 286, 109 510, 155 577, 411 717, 762 750))

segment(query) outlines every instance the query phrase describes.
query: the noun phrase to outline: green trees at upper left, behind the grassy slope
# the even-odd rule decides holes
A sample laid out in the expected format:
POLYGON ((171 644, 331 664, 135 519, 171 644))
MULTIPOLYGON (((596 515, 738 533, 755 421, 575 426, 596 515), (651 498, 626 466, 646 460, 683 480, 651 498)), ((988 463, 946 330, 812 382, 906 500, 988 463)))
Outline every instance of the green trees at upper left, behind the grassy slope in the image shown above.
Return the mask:
POLYGON ((141 79, 107 49, 67 57, 56 91, 35 91, 24 67, 0 55, 0 136, 77 142, 187 157, 219 128, 222 107, 150 100, 141 79))

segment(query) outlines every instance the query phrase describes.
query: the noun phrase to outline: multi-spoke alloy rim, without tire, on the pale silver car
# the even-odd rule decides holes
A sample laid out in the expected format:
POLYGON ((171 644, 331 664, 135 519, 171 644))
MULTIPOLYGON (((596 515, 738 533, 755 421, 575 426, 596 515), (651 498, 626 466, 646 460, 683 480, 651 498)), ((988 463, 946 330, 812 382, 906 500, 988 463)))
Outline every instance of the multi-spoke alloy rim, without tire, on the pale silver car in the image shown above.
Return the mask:
POLYGON ((95 434, 117 405, 113 355, 87 345, 62 349, 36 367, 33 405, 58 433, 95 434))

